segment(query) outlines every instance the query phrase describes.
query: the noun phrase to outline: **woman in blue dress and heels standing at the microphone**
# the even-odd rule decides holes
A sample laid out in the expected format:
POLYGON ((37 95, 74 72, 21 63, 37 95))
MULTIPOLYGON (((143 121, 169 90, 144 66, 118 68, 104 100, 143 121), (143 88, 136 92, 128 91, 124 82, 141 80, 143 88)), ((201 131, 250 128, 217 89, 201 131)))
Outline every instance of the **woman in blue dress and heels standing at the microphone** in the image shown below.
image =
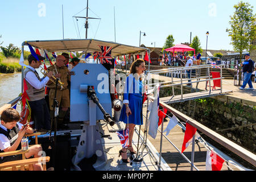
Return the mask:
MULTIPOLYGON (((142 100, 143 100, 143 84, 142 75, 146 70, 143 59, 137 59, 131 64, 130 74, 125 81, 125 90, 123 93, 123 107, 119 121, 126 123, 129 129, 129 146, 119 151, 122 161, 129 163, 127 160, 127 149, 131 155, 136 154, 132 146, 133 133, 135 125, 143 125, 142 118, 142 100), (129 119, 127 119, 129 117, 129 119)), ((147 87, 146 87, 147 88, 147 87)))

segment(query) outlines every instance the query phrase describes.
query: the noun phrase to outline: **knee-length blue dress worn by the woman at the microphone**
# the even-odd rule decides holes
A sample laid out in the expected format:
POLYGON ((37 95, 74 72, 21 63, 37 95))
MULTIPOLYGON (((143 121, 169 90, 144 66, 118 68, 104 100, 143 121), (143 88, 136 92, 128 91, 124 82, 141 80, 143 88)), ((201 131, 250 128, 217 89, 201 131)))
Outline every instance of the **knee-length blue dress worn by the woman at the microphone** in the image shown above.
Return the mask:
POLYGON ((126 115, 126 106, 123 104, 121 115, 119 117, 119 121, 123 121, 124 123, 133 123, 135 125, 143 125, 143 118, 142 118, 142 81, 141 80, 135 80, 129 79, 129 77, 126 78, 125 83, 125 89, 126 92, 123 93, 123 100, 129 100, 129 107, 131 110, 131 115, 129 115, 129 121, 127 121, 127 115, 126 115), (129 81, 132 81, 132 83, 129 84, 129 81), (133 86, 131 86, 133 85, 133 86), (135 88, 139 89, 135 92, 135 88))

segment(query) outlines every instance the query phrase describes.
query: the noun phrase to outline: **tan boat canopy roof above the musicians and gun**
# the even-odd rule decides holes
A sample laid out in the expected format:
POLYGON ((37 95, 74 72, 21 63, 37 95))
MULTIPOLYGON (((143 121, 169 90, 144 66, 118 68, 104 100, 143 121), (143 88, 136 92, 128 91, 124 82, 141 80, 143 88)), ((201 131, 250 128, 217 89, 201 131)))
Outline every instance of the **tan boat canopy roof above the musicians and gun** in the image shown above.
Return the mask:
POLYGON ((24 42, 23 45, 27 45, 27 43, 35 48, 44 49, 50 52, 85 51, 93 53, 94 51, 100 52, 100 46, 111 46, 112 56, 141 53, 148 49, 96 39, 32 40, 24 42))

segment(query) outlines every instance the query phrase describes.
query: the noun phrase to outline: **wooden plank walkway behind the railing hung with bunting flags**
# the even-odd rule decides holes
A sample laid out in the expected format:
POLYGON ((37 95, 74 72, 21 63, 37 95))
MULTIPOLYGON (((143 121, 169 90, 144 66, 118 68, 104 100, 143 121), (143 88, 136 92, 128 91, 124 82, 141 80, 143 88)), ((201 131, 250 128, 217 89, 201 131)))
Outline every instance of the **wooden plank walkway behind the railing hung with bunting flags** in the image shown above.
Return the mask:
MULTIPOLYGON (((146 107, 143 108, 143 115, 146 116, 146 107)), ((144 131, 145 122, 146 118, 143 119, 143 125, 141 126, 142 131, 144 131)), ((163 122, 163 130, 166 129, 168 122, 169 118, 167 117, 166 122, 163 122)), ((161 126, 159 126, 159 130, 161 130, 161 126)), ((184 131, 181 129, 180 126, 176 125, 174 129, 170 131, 167 138, 170 139, 171 142, 174 143, 174 145, 181 151, 184 139, 184 131)), ((148 135, 147 139, 150 140, 150 142, 153 144, 156 150, 160 153, 160 132, 158 131, 158 134, 156 135, 155 139, 150 137, 150 135, 148 135)), ((183 152, 183 154, 189 160, 191 160, 191 151, 192 144, 190 144, 183 152)), ((207 148, 205 148, 202 143, 196 142, 194 164, 200 171, 205 171, 206 155, 207 148)), ((162 143, 162 157, 173 171, 191 171, 191 164, 188 163, 187 160, 185 160, 183 156, 180 155, 176 148, 172 146, 172 144, 168 142, 168 140, 164 137, 162 143)), ((238 168, 234 167, 233 165, 229 164, 229 167, 232 168, 233 170, 238 170, 238 168)), ((228 166, 226 166, 226 164, 223 164, 221 171, 226 170, 229 170, 228 166)), ((196 169, 194 168, 193 171, 196 171, 196 169)))

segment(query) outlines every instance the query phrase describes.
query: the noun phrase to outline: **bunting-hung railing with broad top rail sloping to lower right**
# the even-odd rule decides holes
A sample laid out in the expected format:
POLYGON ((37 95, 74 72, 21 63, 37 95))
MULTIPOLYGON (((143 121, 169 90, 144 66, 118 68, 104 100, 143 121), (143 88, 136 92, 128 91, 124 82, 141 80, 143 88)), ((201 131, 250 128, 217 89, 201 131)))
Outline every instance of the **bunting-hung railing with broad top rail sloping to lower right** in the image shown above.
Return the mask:
MULTIPOLYGON (((192 118, 188 117, 187 115, 181 113, 180 111, 174 109, 173 107, 171 107, 171 106, 169 106, 167 104, 164 104, 163 102, 159 102, 159 106, 162 107, 163 109, 164 108, 167 109, 167 111, 170 111, 177 118, 181 119, 184 123, 189 123, 189 125, 195 127, 197 129, 197 131, 200 131, 201 133, 207 135, 207 137, 213 139, 218 144, 221 144, 222 146, 224 146, 229 151, 232 151, 234 154, 237 154, 242 159, 244 159, 247 162, 253 164, 253 166, 256 166, 256 155, 253 154, 252 152, 247 151, 245 148, 242 148, 238 144, 230 141, 229 139, 226 139, 225 137, 222 137, 222 135, 216 133, 213 130, 210 130, 208 127, 206 127, 206 126, 202 125, 201 123, 197 122, 195 119, 192 119, 192 118)), ((182 123, 179 126, 182 127, 183 130, 185 130, 185 126, 182 123)), ((161 130, 158 129, 158 131, 160 132, 159 166, 160 166, 160 163, 161 163, 160 159, 162 157, 162 143, 163 143, 163 137, 164 137, 164 138, 166 138, 168 140, 168 142, 170 144, 172 144, 172 146, 174 146, 176 148, 176 150, 180 153, 180 155, 183 156, 183 158, 185 160, 187 160, 188 163, 191 164, 191 171, 193 171, 193 168, 195 168, 197 171, 199 171, 199 169, 194 164, 195 135, 193 136, 193 139, 192 139, 192 151, 191 151, 192 153, 191 153, 191 160, 189 160, 184 154, 181 153, 179 148, 177 148, 175 146, 175 144, 172 143, 171 140, 168 139, 168 137, 163 134, 163 122, 162 122, 161 130)), ((201 139, 203 139, 203 138, 201 138, 201 139)))

